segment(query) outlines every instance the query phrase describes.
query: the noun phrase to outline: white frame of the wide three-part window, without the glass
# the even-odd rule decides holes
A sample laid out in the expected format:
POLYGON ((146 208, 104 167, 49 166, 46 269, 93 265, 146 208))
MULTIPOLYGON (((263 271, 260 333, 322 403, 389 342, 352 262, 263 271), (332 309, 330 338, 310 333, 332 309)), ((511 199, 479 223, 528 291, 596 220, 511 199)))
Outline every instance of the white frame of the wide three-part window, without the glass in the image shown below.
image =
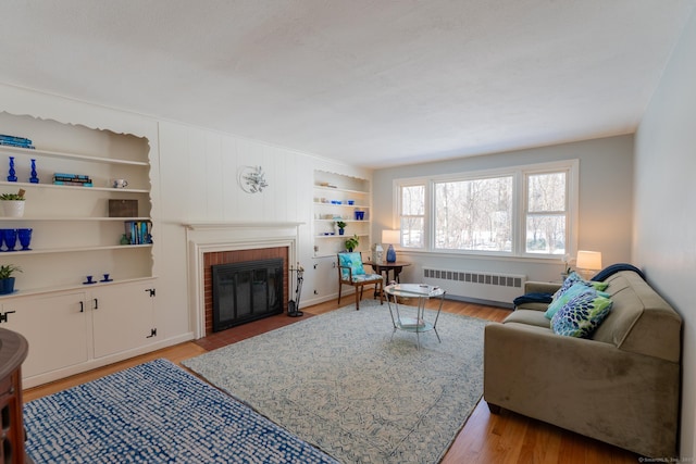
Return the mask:
POLYGON ((400 226, 402 211, 402 187, 423 186, 425 192, 425 211, 423 214, 423 247, 399 247, 412 252, 428 252, 450 255, 482 255, 498 258, 523 258, 557 260, 564 254, 574 255, 577 250, 577 217, 580 204, 580 161, 562 160, 547 163, 517 165, 494 170, 477 170, 452 174, 442 174, 423 177, 396 178, 393 181, 393 224, 400 226), (566 173, 566 249, 561 254, 530 253, 526 251, 526 220, 527 220, 527 180, 531 175, 566 173), (446 181, 470 181, 492 177, 512 176, 512 250, 482 251, 482 250, 443 250, 435 248, 435 185, 446 181))

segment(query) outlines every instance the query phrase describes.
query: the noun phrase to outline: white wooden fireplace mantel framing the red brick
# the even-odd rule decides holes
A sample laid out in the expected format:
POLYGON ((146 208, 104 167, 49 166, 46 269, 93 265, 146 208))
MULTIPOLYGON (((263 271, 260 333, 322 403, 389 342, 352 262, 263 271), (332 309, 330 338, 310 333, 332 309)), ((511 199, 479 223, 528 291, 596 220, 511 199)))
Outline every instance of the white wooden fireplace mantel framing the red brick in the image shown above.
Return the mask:
MULTIPOLYGON (((296 222, 198 222, 186 223, 190 308, 196 338, 206 336, 203 288, 204 253, 287 247, 288 263, 296 263, 299 226, 296 222)), ((289 281, 289 280, 288 280, 289 281)))

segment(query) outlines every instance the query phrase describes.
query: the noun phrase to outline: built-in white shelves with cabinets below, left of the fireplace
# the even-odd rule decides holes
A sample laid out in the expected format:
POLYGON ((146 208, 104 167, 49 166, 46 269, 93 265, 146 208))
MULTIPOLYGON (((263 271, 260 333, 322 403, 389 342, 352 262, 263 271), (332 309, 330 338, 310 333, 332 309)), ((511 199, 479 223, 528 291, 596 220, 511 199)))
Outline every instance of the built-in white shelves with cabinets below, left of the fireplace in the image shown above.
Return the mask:
POLYGON ((0 253, 22 268, 0 297, 0 324, 29 342, 24 386, 156 343, 148 138, 7 112, 0 127, 0 193, 25 198, 24 215, 0 217, 0 228, 32 230, 29 249, 0 253), (135 208, 113 216, 114 200, 135 208), (128 223, 146 224, 147 240, 125 242, 128 223))

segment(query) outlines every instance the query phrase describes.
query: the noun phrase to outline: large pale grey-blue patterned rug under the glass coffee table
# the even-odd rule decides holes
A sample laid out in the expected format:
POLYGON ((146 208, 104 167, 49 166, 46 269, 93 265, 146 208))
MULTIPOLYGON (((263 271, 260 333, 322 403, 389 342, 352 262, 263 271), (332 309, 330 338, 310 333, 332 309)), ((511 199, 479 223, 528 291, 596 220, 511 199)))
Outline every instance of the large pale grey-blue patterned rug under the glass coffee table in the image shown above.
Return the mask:
POLYGON ((443 313, 418 350, 364 300, 183 364, 343 463, 436 463, 483 393, 486 324, 443 313))

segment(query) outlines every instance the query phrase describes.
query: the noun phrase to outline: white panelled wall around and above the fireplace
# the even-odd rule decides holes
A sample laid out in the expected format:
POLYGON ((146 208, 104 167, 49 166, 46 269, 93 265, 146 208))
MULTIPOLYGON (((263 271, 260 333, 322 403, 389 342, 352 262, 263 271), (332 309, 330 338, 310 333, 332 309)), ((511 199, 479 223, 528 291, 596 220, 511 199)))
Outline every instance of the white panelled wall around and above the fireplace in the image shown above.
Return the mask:
POLYGON ((299 222, 298 258, 306 269, 302 306, 313 303, 312 201, 314 170, 371 178, 371 172, 307 153, 185 124, 160 122, 161 230, 164 252, 157 258, 166 292, 169 330, 181 333, 191 321, 187 290, 186 230, 191 222, 299 222), (262 166, 269 184, 250 195, 237 181, 241 166, 262 166))

